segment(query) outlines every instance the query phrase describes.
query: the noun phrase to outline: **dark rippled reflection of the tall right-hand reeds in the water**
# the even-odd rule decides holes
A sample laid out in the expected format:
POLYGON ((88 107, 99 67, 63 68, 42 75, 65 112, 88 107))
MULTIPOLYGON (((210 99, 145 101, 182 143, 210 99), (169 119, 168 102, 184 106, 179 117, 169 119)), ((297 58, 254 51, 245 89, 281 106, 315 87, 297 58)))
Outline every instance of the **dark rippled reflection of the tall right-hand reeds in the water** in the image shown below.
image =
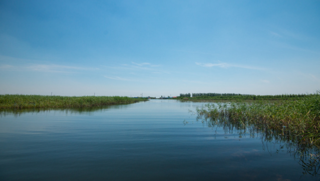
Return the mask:
MULTIPOLYGON (((195 114, 193 111, 189 112, 195 114)), ((270 155, 287 152, 295 159, 299 159, 299 164, 304 170, 303 175, 314 177, 320 175, 320 148, 317 145, 299 142, 298 140, 301 139, 297 139, 285 127, 283 130, 273 130, 257 127, 253 124, 245 125, 239 121, 229 120, 227 117, 207 118, 200 115, 197 116, 196 121, 215 130, 215 136, 217 129, 222 128, 226 134, 234 134, 235 138, 237 136, 239 141, 243 137, 260 138, 263 150, 269 152, 270 155)), ((189 122, 184 120, 183 123, 188 124, 189 122)))

